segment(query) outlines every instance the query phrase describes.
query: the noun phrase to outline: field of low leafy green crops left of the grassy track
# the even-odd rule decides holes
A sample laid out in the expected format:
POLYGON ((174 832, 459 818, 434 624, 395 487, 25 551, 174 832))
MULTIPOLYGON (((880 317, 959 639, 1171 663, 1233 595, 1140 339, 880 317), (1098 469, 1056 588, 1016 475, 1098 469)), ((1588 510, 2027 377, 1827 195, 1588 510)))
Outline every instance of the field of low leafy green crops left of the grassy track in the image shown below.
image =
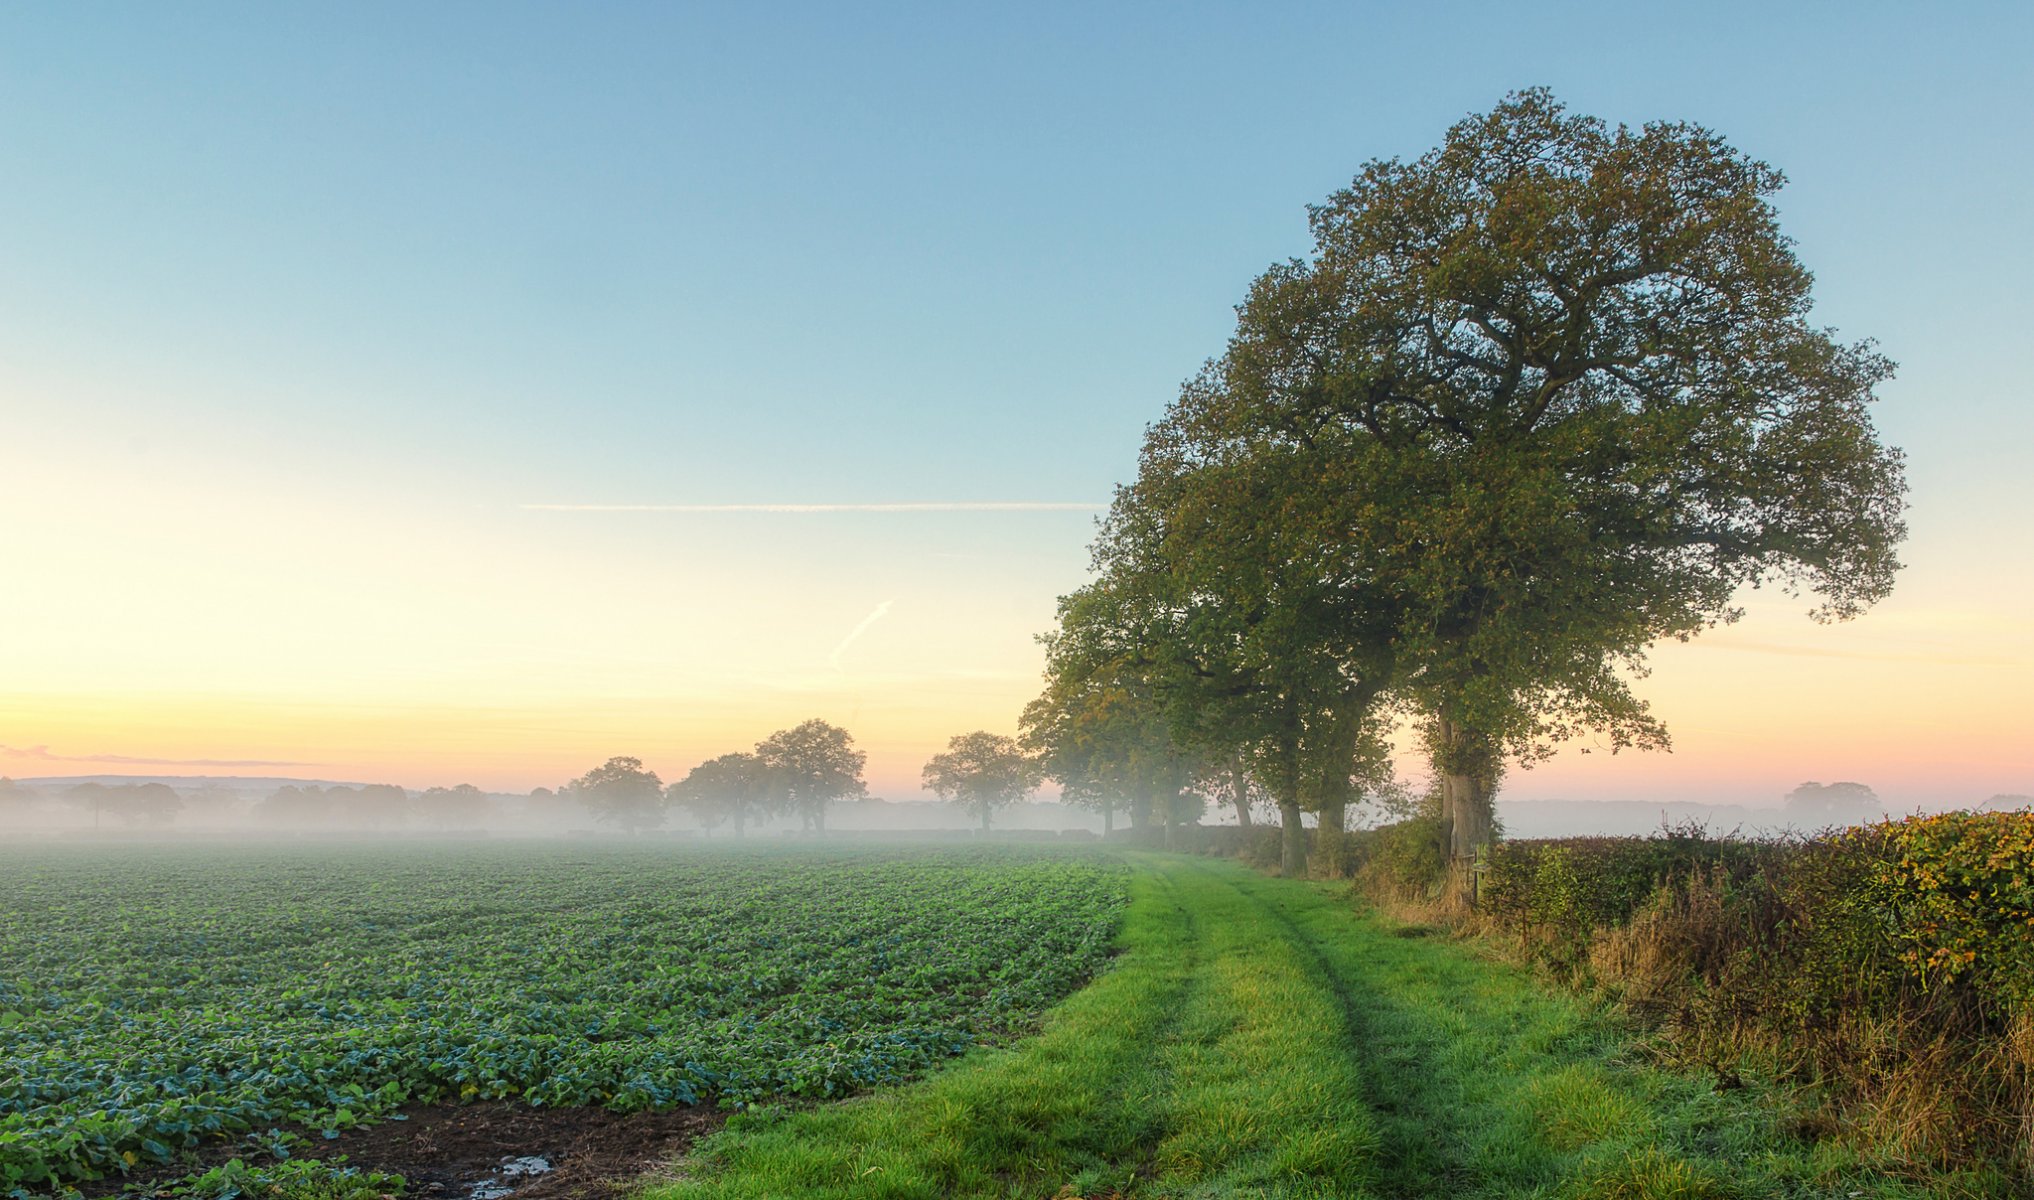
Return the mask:
POLYGON ((222 1143, 301 1163, 405 1104, 903 1080, 1090 978, 1125 879, 1003 848, 0 852, 0 1196, 222 1143))

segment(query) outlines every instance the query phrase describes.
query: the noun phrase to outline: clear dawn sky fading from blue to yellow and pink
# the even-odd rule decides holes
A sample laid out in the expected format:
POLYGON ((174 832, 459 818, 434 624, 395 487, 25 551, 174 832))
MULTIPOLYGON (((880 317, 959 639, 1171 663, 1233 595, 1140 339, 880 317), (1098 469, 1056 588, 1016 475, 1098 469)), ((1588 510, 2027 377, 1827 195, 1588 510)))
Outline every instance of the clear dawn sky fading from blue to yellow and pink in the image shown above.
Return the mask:
POLYGON ((1672 755, 1505 795, 2034 793, 2026 4, 0 6, 0 773, 557 785, 1015 732, 1306 205, 1548 85, 1778 165, 1900 362, 1896 594, 1747 596, 1672 755))

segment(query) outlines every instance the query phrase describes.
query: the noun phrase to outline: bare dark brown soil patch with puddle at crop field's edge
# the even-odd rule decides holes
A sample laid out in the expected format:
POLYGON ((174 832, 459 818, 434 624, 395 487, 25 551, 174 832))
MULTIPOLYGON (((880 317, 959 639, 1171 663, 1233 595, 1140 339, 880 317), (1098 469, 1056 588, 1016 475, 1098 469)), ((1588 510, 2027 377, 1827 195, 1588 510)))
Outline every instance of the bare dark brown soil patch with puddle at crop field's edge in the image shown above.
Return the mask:
POLYGON ((476 1184, 515 1200, 606 1200, 614 1186, 667 1165, 726 1119, 712 1108, 608 1113, 606 1108, 529 1108, 511 1102, 458 1108, 405 1108, 407 1121, 350 1129, 317 1147, 344 1153, 348 1165, 395 1172, 409 1194, 464 1200, 476 1184), (543 1159, 549 1172, 502 1176, 504 1163, 543 1159))

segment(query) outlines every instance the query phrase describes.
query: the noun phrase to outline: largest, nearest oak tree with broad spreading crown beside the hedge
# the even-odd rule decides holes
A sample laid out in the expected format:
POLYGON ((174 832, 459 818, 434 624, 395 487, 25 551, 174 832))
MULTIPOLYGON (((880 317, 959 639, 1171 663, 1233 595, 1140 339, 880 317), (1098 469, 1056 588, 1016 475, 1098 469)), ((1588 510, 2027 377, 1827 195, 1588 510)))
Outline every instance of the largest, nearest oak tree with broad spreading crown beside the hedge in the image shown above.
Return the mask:
MULTIPOLYGON (((1312 209, 1176 423, 1198 449, 1304 454, 1340 511, 1322 578, 1391 596, 1456 858, 1507 759, 1584 728, 1664 746, 1646 647, 1778 582, 1849 618, 1904 537, 1867 407, 1892 364, 1808 323, 1772 167, 1692 124, 1507 98, 1312 209)), ((1312 496, 1312 500, 1308 500, 1312 496)))

